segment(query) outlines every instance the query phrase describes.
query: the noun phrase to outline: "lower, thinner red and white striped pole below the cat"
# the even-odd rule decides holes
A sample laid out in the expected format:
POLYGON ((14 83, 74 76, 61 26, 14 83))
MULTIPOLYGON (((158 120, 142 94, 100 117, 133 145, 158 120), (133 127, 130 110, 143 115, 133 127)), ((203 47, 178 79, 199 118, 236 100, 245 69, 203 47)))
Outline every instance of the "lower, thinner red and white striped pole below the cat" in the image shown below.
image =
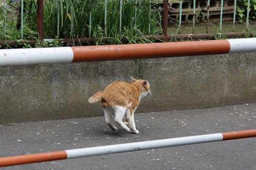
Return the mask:
POLYGON ((256 137, 256 129, 0 158, 0 167, 256 137))

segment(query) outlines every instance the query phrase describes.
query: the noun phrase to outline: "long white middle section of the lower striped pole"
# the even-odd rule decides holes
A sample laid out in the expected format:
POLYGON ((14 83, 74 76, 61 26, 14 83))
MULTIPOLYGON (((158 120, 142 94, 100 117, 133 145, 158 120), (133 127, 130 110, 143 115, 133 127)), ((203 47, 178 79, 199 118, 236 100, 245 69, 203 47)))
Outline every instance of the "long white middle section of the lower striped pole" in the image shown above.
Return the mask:
POLYGON ((221 133, 66 150, 67 159, 222 141, 221 133))

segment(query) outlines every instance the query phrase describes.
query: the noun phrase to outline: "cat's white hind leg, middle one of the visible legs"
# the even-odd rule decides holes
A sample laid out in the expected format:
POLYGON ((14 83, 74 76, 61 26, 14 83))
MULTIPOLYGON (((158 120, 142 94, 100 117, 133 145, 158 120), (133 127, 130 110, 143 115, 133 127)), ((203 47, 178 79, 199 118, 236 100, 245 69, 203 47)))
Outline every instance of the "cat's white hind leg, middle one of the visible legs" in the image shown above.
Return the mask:
POLYGON ((123 129, 125 129, 126 131, 130 131, 130 129, 122 122, 122 119, 125 115, 126 112, 126 108, 122 107, 122 106, 114 106, 113 107, 114 113, 115 113, 115 122, 122 127, 123 129))

